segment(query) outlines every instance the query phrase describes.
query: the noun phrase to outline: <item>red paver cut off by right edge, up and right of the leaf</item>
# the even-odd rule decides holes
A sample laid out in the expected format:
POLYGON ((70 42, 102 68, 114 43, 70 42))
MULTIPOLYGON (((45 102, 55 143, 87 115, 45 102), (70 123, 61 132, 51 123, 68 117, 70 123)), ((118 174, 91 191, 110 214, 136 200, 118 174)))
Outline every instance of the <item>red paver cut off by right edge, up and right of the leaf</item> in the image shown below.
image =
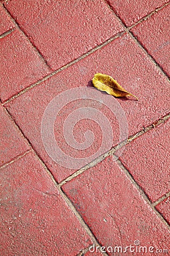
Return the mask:
POLYGON ((168 76, 170 76, 169 12, 170 5, 131 29, 134 36, 168 76))

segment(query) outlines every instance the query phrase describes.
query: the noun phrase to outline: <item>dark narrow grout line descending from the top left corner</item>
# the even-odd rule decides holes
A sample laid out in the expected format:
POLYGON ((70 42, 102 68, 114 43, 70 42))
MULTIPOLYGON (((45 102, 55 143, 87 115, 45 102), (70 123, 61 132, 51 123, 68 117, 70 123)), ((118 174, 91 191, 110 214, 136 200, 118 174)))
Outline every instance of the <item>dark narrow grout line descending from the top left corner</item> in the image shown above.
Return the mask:
POLYGON ((12 14, 10 13, 10 11, 8 11, 7 7, 5 6, 5 4, 3 3, 3 7, 6 10, 6 13, 8 14, 8 16, 10 16, 12 22, 15 24, 16 28, 18 28, 18 30, 20 32, 22 32, 22 34, 25 36, 25 38, 28 40, 29 44, 32 45, 32 47, 34 48, 34 50, 36 51, 37 55, 39 55, 39 57, 41 57, 41 59, 44 61, 44 63, 48 66, 48 68, 50 69, 50 71, 52 71, 52 68, 50 67, 50 65, 48 64, 48 62, 46 61, 46 59, 44 58, 44 56, 42 56, 41 52, 39 51, 39 49, 37 49, 37 47, 31 42, 31 40, 29 39, 29 36, 27 34, 25 34, 24 30, 19 26, 18 22, 15 20, 14 16, 12 16, 12 14))

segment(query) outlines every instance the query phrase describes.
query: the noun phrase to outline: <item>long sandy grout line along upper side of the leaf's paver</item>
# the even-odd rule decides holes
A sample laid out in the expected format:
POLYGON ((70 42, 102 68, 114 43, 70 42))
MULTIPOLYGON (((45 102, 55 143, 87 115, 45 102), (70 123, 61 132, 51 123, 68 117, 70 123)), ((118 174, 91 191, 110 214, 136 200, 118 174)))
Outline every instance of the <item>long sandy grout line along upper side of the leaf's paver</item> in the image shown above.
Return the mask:
POLYGON ((85 57, 87 57, 88 55, 91 55, 92 53, 96 52, 98 49, 103 48, 104 46, 106 46, 107 44, 111 43, 114 39, 116 38, 120 38, 122 35, 125 34, 125 31, 122 32, 118 32, 115 36, 109 38, 108 40, 106 40, 104 43, 101 43, 99 46, 91 49, 90 51, 84 53, 83 55, 79 56, 77 59, 71 61, 70 63, 64 65, 63 67, 57 69, 56 71, 50 73, 49 75, 43 77, 41 80, 37 81, 35 84, 32 84, 30 86, 28 86, 27 88, 21 90, 19 93, 15 94, 14 96, 12 96, 11 98, 9 98, 8 100, 6 100, 5 102, 2 103, 2 105, 7 104, 8 102, 14 100, 15 98, 18 98, 20 95, 22 95, 23 93, 27 92, 28 90, 34 88, 36 85, 41 84, 41 82, 44 82, 46 80, 48 80, 50 77, 56 75, 57 73, 63 71, 66 68, 69 68, 71 65, 77 63, 79 60, 84 59, 85 57))

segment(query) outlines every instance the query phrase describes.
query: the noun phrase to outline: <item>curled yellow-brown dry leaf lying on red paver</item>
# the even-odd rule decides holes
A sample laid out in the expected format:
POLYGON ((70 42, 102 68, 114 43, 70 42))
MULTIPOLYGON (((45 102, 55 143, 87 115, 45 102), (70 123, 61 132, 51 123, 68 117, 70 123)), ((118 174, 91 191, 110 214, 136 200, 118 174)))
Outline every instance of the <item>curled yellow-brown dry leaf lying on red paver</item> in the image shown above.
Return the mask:
POLYGON ((118 84, 118 82, 111 76, 96 73, 92 79, 92 82, 98 90, 103 90, 104 92, 107 92, 115 97, 133 96, 138 100, 136 96, 127 92, 127 90, 122 88, 122 86, 118 84))

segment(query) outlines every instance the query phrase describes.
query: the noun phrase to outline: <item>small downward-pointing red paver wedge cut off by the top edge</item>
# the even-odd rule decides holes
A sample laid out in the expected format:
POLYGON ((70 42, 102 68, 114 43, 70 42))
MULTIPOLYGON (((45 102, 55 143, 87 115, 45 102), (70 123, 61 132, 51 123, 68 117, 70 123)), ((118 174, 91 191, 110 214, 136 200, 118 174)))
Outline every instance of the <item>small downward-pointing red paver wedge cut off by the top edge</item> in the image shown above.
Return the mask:
POLYGON ((156 8, 168 3, 168 0, 129 0, 129 1, 107 1, 113 10, 120 16, 126 26, 130 27, 138 20, 150 14, 156 8))

